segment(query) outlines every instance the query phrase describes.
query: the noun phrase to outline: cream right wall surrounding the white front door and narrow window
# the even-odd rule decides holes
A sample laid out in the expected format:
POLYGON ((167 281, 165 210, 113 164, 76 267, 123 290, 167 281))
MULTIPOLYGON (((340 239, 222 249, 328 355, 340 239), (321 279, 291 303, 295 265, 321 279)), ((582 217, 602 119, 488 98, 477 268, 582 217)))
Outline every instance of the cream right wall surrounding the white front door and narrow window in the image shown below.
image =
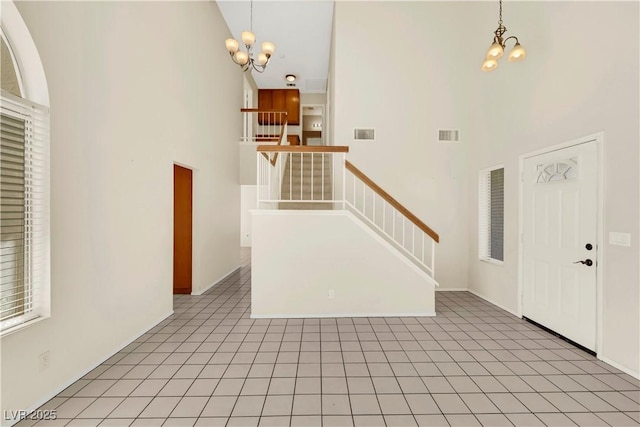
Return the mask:
MULTIPOLYGON (((490 17, 488 4, 475 5, 490 17)), ((501 60, 471 77, 468 115, 469 285, 513 311, 518 306, 518 158, 521 154, 604 131, 603 347, 599 356, 640 374, 638 277, 637 2, 515 2, 505 25, 528 49, 522 62, 501 60), (597 31, 594 29, 597 28, 597 31), (612 45, 602 34, 616 34, 612 45), (629 55, 628 52, 634 52, 629 55), (597 59, 596 59, 597 58, 597 59), (477 171, 505 165, 505 263, 477 257, 477 171), (630 248, 608 244, 611 231, 631 234, 630 248)), ((490 35, 486 29, 487 35, 490 35)), ((486 50, 490 40, 470 41, 486 50)), ((477 58, 477 66, 481 58, 477 58)))

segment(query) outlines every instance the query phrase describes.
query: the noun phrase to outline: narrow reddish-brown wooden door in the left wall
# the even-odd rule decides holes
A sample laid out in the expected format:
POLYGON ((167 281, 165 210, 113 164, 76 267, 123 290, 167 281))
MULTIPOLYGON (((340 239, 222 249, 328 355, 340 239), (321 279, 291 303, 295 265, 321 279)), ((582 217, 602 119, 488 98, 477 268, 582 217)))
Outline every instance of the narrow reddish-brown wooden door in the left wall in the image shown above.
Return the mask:
POLYGON ((173 293, 190 294, 193 243, 193 173, 173 165, 173 293))

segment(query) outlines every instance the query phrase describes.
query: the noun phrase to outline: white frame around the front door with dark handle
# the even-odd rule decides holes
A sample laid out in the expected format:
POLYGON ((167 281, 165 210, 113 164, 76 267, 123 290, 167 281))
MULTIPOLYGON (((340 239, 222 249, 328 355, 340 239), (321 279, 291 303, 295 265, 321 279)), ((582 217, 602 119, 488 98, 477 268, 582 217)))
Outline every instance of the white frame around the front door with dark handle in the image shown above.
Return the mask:
POLYGON ((603 315, 603 277, 604 277, 604 259, 605 251, 604 240, 604 131, 585 135, 580 138, 572 139, 560 144, 555 144, 521 154, 519 157, 519 202, 518 202, 518 317, 522 318, 522 306, 524 299, 524 162, 525 159, 539 156, 541 154, 559 151, 565 148, 574 147, 585 144, 587 142, 595 142, 597 152, 597 188, 596 188, 596 354, 599 359, 602 358, 602 315, 603 315))

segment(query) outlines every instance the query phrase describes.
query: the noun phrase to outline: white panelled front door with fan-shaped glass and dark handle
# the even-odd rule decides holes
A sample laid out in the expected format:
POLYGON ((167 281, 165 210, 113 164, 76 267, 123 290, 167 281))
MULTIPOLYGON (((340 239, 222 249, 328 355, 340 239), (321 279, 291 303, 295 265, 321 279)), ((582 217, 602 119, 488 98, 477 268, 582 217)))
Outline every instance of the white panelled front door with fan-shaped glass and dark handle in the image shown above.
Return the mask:
POLYGON ((595 351, 597 143, 523 165, 523 315, 595 351))

